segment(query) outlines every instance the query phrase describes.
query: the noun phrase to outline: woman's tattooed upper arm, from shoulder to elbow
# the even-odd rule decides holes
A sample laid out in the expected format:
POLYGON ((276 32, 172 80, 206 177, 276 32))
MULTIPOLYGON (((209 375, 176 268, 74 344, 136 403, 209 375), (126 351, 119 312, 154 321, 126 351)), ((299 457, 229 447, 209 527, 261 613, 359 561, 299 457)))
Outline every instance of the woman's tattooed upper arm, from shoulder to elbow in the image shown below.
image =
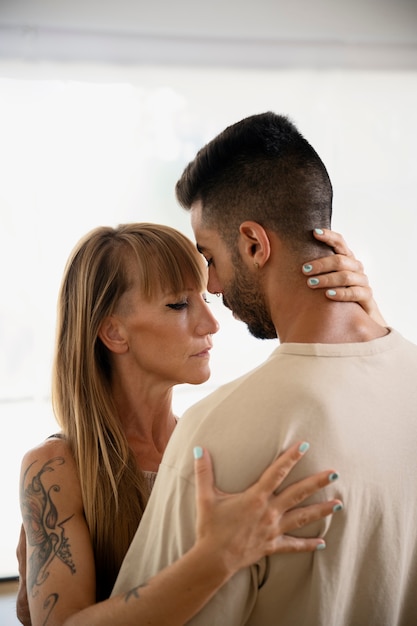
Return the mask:
MULTIPOLYGON (((21 588, 26 584, 31 623, 62 624, 95 602, 93 550, 78 474, 65 441, 47 440, 25 455, 20 504, 26 535, 21 588)), ((23 611, 22 594, 19 601, 23 611)))

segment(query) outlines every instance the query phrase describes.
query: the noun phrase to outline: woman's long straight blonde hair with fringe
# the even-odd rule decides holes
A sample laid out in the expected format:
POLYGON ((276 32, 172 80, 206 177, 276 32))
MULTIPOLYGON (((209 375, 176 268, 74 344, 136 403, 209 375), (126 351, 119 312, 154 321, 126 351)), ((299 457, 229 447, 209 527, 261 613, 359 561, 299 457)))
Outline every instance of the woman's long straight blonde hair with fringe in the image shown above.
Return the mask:
POLYGON ((160 289, 205 289, 201 256, 184 235, 159 224, 89 232, 74 248, 58 298, 52 402, 74 455, 94 547, 97 599, 110 595, 149 496, 118 419, 111 361, 98 337, 103 319, 135 282, 160 289))

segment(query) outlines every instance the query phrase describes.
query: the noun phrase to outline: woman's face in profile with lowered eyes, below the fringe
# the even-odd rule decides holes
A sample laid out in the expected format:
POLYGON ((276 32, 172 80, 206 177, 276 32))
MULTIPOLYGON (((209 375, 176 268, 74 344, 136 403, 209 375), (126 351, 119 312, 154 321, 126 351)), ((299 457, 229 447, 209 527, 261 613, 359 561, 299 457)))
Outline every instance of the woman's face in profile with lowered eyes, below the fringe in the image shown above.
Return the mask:
POLYGON ((209 378, 211 335, 219 325, 199 288, 160 292, 149 301, 133 287, 114 317, 128 345, 123 358, 141 380, 172 385, 200 384, 209 378))

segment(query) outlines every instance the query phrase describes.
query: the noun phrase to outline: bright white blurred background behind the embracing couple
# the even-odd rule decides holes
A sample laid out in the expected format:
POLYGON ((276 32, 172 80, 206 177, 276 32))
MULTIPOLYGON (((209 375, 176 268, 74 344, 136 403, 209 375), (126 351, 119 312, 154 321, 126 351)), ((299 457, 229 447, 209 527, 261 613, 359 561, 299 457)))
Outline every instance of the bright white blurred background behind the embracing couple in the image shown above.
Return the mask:
MULTIPOLYGON (((266 110, 324 160, 333 228, 388 323, 417 342, 415 0, 0 0, 0 578, 17 574, 21 457, 56 429, 55 304, 72 247, 125 221, 192 238, 177 178, 226 125, 266 110)), ((213 375, 177 389, 179 414, 275 347, 211 301, 213 375)))

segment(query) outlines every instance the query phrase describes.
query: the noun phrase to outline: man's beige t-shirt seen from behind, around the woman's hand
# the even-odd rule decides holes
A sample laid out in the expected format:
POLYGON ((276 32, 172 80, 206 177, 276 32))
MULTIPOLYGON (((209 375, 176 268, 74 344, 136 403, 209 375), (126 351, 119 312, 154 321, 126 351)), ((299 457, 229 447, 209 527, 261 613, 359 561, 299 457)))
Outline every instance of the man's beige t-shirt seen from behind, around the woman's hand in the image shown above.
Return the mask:
POLYGON ((303 530, 324 552, 277 555, 237 574, 192 624, 412 626, 417 623, 417 347, 395 332, 355 344, 283 344, 182 418, 118 591, 194 543, 191 450, 208 448, 216 483, 240 491, 283 448, 311 448, 294 482, 333 465, 345 510, 303 530))

